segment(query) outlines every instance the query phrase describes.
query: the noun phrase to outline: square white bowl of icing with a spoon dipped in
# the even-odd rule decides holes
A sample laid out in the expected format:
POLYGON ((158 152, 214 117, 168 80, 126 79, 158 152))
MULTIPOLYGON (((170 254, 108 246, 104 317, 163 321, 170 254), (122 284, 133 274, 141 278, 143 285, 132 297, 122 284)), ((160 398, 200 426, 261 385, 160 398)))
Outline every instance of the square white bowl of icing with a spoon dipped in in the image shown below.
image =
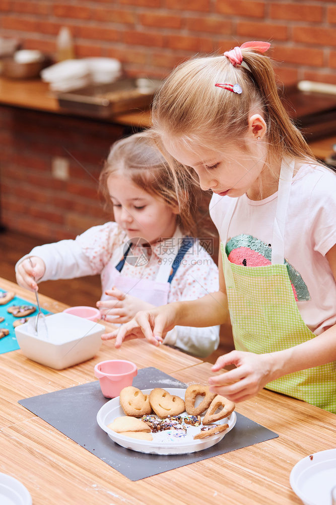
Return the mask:
POLYGON ((105 327, 94 321, 60 312, 45 318, 47 336, 35 334, 25 323, 15 328, 23 354, 30 360, 61 370, 93 358, 101 345, 105 327))

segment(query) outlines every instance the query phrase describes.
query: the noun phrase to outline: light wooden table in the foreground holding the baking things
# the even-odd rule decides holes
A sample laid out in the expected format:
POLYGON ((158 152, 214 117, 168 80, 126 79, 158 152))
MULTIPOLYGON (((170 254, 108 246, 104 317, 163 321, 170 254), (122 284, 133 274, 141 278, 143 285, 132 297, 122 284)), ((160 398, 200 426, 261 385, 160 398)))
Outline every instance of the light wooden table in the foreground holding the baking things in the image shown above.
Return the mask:
MULTIPOLYGON (((30 293, 0 278, 0 287, 34 302, 30 293)), ((40 295, 53 312, 65 306, 40 295)), ((162 345, 133 340, 116 350, 103 342, 94 359, 52 370, 26 359, 21 350, 0 355, 0 472, 19 479, 34 505, 225 505, 300 504, 289 484, 303 457, 336 444, 336 417, 293 398, 262 390, 237 412, 275 431, 279 438, 235 450, 132 482, 19 405, 18 400, 92 382, 103 359, 129 359, 139 368, 155 366, 186 383, 207 383, 211 365, 162 345)))

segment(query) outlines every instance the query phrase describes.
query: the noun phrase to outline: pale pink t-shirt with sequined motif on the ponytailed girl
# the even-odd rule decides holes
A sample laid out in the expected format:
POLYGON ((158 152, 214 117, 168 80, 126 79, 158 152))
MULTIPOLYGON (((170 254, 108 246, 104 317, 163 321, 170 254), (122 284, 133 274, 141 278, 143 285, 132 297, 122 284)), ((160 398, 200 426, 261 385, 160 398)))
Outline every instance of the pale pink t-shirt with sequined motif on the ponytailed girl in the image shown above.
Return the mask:
MULTIPOLYGON (((271 263, 277 196, 238 198, 228 236, 224 215, 234 204, 214 194, 210 215, 232 263, 271 263)), ((318 335, 336 323, 336 282, 325 257, 336 243, 336 174, 321 165, 302 165, 293 177, 285 228, 285 264, 303 321, 318 335)))

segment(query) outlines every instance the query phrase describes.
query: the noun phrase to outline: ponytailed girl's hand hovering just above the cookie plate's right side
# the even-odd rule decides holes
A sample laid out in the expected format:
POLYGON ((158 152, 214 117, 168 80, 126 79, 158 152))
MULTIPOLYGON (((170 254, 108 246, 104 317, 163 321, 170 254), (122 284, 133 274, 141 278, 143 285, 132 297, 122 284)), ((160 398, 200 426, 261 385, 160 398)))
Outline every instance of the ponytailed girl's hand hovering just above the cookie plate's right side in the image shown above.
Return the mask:
POLYGON ((233 350, 220 356, 212 371, 218 372, 232 364, 236 366, 235 369, 209 379, 210 391, 221 394, 231 401, 247 400, 257 394, 267 382, 273 380, 269 354, 233 350))

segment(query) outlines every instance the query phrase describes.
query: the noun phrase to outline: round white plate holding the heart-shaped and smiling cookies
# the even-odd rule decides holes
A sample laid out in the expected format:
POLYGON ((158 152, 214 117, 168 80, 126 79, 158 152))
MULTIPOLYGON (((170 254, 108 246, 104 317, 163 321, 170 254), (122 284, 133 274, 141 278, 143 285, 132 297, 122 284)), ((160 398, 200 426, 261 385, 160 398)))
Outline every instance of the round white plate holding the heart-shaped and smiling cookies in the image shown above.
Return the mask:
MULTIPOLYGON (((144 394, 149 394, 151 389, 142 389, 144 394)), ((184 399, 185 389, 181 388, 165 388, 170 394, 175 394, 184 399)), ((196 402, 197 405, 197 402, 196 402)), ((153 440, 139 440, 136 438, 126 437, 120 435, 115 431, 110 430, 107 425, 112 423, 116 417, 124 416, 124 412, 120 406, 119 396, 112 398, 107 401, 105 405, 99 410, 97 414, 97 423, 99 426, 106 431, 108 436, 117 444, 126 447, 127 449, 136 450, 138 452, 146 452, 149 454, 185 454, 189 452, 196 452, 198 450, 207 449, 218 443, 222 438, 228 433, 234 425, 236 424, 236 414, 232 414, 216 424, 228 424, 227 430, 222 431, 218 435, 207 437, 201 440, 194 440, 193 436, 199 433, 200 427, 188 426, 187 435, 182 438, 174 438, 174 430, 159 431, 158 433, 152 433, 153 440)), ((181 414, 183 416, 183 414, 181 414)))

